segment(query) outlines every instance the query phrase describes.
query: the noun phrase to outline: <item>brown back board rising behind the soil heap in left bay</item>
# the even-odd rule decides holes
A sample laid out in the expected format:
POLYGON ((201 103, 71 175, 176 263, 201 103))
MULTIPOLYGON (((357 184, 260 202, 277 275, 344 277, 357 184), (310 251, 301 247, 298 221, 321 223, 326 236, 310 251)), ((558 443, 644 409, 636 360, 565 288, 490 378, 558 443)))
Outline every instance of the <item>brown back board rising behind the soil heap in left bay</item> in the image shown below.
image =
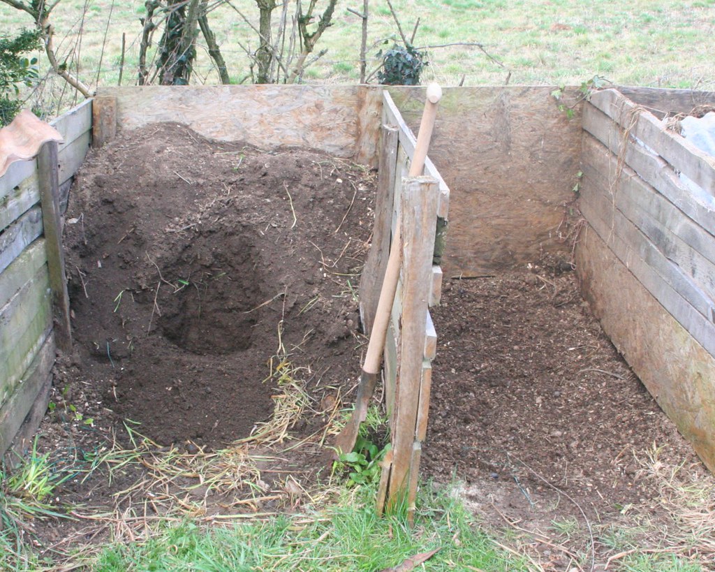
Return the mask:
POLYGON ((377 165, 381 89, 365 86, 105 87, 117 127, 179 122, 222 141, 295 145, 377 165))

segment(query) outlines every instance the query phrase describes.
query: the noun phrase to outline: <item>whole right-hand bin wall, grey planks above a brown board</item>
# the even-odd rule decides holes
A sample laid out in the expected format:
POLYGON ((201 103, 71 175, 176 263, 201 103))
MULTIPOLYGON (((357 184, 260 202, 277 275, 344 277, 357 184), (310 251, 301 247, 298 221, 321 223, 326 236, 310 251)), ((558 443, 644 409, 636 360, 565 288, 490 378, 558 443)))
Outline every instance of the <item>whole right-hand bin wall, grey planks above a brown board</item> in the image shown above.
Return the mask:
MULTIPOLYGON (((631 91, 631 94, 633 92, 631 91)), ((689 102, 646 92, 672 113, 689 102)), ((715 94, 690 101, 715 104, 715 94), (709 98, 709 99, 708 99, 709 98)), ((715 158, 615 89, 583 108, 577 270, 603 329, 715 470, 715 158), (694 191, 678 173, 696 181, 694 191)))

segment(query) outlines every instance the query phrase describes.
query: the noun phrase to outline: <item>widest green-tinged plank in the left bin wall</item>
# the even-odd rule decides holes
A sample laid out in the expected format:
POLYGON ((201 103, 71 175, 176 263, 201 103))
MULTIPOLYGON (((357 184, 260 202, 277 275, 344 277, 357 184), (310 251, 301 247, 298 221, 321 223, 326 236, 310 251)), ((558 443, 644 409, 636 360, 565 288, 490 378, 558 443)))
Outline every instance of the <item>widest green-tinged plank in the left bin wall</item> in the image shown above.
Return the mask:
POLYGON ((0 309, 0 405, 14 391, 51 325, 49 276, 43 266, 0 309))

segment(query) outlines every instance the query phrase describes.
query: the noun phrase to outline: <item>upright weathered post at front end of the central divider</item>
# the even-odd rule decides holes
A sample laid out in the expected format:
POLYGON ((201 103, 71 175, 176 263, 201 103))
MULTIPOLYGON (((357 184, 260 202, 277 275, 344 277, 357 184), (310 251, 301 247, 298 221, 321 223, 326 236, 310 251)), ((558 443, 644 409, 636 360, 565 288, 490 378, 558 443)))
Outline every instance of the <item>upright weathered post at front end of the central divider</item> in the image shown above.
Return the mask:
POLYGON ((401 501, 409 502, 417 490, 420 446, 415 443, 415 431, 423 380, 425 325, 431 289, 437 203, 438 184, 435 179, 405 179, 401 224, 402 333, 400 370, 392 423, 393 464, 388 507, 394 507, 401 501))

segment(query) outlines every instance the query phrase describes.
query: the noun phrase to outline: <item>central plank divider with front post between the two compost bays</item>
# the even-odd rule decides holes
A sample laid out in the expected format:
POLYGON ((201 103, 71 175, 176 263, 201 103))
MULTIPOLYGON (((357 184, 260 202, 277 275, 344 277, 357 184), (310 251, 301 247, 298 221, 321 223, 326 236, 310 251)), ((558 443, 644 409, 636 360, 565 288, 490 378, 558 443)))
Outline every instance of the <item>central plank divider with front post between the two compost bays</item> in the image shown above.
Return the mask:
MULTIPOLYGON (((422 92, 424 97, 424 89, 422 92)), ((383 465, 378 510, 387 498, 406 501, 415 510, 422 442, 427 431, 431 360, 437 334, 428 307, 439 303, 442 271, 435 263, 435 237, 445 228, 450 189, 428 158, 425 176, 408 178, 415 135, 405 124, 390 94, 384 92, 378 182, 379 212, 373 247, 360 283, 360 312, 372 324, 390 247, 403 249, 402 268, 385 342, 383 380, 393 450, 383 465), (401 221, 402 240, 394 242, 401 221)), ((422 100, 424 105, 424 99, 422 100)), ((438 257, 438 255, 437 255, 438 257)))

